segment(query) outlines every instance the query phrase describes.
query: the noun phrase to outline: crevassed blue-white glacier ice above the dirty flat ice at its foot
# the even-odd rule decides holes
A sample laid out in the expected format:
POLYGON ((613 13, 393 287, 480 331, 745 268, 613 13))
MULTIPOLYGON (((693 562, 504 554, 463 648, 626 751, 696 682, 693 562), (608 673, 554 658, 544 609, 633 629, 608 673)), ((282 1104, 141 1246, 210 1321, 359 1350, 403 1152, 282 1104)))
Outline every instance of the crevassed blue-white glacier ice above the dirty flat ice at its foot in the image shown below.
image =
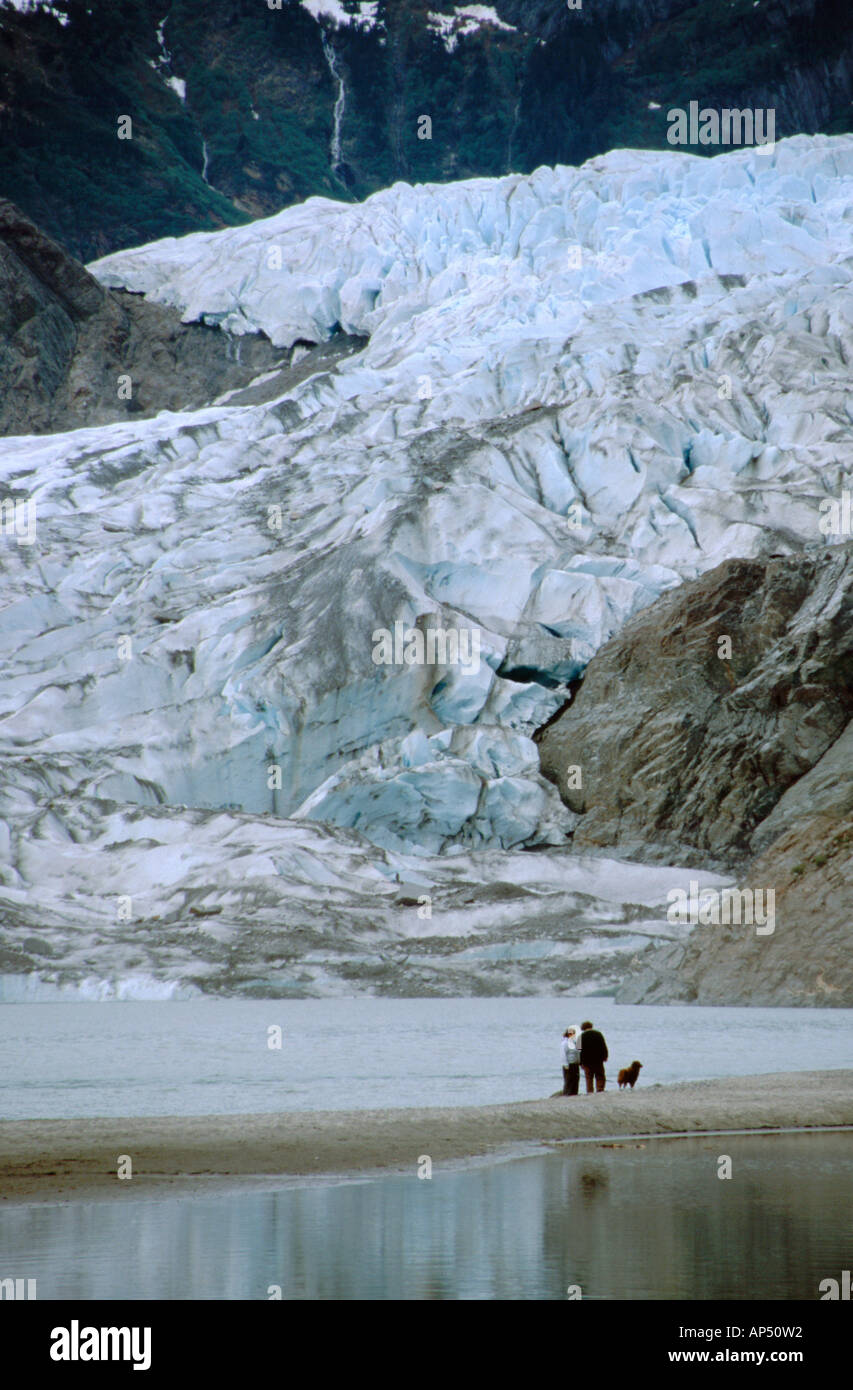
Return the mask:
MULTIPOLYGON (((265 403, 6 442, 0 486, 38 505, 35 543, 1 552, 26 920, 33 816, 119 891, 108 802, 297 817, 264 837, 311 817, 368 859, 464 855, 475 883, 478 853, 564 845, 532 734, 592 653, 727 556, 825 541, 852 225, 853 138, 815 136, 311 199, 92 267, 238 336, 370 342, 265 403), (436 626, 478 660, 417 660, 436 626)), ((192 858, 208 819, 181 816, 192 858)))

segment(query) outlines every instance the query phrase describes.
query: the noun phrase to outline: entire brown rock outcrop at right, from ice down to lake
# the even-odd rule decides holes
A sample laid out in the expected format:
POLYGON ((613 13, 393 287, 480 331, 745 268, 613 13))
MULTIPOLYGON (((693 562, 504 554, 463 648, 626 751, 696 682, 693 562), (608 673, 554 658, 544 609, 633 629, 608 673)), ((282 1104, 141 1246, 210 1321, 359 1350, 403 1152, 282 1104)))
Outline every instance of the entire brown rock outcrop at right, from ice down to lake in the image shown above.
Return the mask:
POLYGON ((543 730, 577 847, 775 894, 772 934, 695 926, 622 1002, 853 1005, 852 616, 853 545, 729 560, 629 621, 543 730))

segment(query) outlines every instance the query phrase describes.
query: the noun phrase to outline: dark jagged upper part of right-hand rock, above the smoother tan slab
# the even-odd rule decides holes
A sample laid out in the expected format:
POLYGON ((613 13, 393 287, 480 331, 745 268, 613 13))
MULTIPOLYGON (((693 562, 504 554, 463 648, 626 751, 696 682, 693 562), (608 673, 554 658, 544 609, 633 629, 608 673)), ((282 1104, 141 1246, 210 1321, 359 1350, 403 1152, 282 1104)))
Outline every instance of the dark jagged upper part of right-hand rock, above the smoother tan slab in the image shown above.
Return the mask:
POLYGON ((853 714, 852 614, 849 546, 729 560, 638 614, 542 735, 575 844, 747 858, 853 714))

